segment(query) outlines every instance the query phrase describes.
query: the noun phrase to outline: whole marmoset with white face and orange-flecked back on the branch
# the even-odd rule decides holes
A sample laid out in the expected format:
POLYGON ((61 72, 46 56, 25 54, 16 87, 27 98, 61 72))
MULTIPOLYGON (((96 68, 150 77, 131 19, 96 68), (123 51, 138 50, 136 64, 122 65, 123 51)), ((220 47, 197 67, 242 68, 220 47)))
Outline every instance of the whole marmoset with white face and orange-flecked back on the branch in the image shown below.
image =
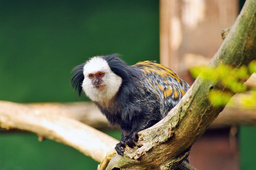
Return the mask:
POLYGON ((123 155, 138 141, 137 133, 164 118, 189 88, 172 70, 154 61, 128 66, 118 54, 95 56, 76 66, 72 86, 82 90, 111 125, 119 125, 121 141, 116 151, 123 155))

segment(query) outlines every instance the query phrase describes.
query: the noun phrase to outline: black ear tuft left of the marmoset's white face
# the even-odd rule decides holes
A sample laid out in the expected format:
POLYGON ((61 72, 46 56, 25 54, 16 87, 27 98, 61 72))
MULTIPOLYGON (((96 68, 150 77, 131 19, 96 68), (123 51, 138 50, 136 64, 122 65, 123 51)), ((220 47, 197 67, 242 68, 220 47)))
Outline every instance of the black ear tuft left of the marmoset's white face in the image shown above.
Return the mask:
POLYGON ((75 68, 73 68, 72 72, 75 72, 74 75, 71 77, 71 85, 75 89, 75 91, 78 91, 79 97, 82 93, 82 83, 83 79, 85 79, 85 76, 83 75, 83 66, 85 66, 85 63, 82 63, 75 68))

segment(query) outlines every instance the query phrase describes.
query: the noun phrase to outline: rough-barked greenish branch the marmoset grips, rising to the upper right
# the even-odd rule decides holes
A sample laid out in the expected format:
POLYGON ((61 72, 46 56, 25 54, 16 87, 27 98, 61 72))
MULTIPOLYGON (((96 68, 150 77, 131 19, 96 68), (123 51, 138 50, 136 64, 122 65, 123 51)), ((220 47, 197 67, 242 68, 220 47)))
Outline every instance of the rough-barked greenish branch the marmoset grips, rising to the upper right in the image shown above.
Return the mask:
MULTIPOLYGON (((256 1, 247 0, 235 24, 208 67, 227 64, 238 68, 256 58, 256 1)), ((115 155, 108 170, 175 169, 189 154, 194 142, 223 110, 208 100, 211 89, 228 90, 199 75, 188 92, 166 118, 139 132, 137 147, 115 155)))

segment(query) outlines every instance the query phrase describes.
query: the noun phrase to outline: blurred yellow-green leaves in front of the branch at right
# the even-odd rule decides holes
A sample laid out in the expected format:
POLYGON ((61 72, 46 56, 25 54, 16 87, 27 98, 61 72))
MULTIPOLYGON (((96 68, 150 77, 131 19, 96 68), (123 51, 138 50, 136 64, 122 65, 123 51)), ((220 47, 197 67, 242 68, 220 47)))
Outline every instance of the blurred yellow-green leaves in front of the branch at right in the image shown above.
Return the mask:
MULTIPOLYGON (((256 73, 256 60, 253 60, 247 66, 240 68, 233 68, 222 64, 217 68, 194 67, 190 69, 191 75, 196 78, 201 74, 201 78, 206 81, 218 83, 220 86, 226 87, 228 90, 222 91, 213 89, 209 93, 209 101, 213 106, 226 105, 234 93, 242 93, 248 90, 244 81, 246 81, 251 74, 256 73)), ((248 90, 250 95, 241 98, 240 104, 244 107, 251 107, 256 105, 256 88, 248 90)), ((233 102, 232 100, 230 102, 233 102)))

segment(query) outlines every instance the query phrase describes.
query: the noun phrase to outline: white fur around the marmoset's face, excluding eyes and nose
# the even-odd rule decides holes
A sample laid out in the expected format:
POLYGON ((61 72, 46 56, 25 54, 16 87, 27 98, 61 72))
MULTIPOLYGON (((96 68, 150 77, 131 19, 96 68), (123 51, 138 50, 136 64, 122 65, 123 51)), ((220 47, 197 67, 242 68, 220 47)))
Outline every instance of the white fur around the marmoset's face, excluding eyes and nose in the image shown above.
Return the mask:
POLYGON ((122 84, 122 78, 112 72, 107 61, 100 56, 93 57, 86 62, 83 67, 83 75, 85 79, 82 83, 82 89, 95 102, 109 101, 116 95, 122 84), (89 78, 89 74, 97 72, 105 73, 102 77, 102 85, 104 87, 100 89, 94 88, 92 79, 89 78))

